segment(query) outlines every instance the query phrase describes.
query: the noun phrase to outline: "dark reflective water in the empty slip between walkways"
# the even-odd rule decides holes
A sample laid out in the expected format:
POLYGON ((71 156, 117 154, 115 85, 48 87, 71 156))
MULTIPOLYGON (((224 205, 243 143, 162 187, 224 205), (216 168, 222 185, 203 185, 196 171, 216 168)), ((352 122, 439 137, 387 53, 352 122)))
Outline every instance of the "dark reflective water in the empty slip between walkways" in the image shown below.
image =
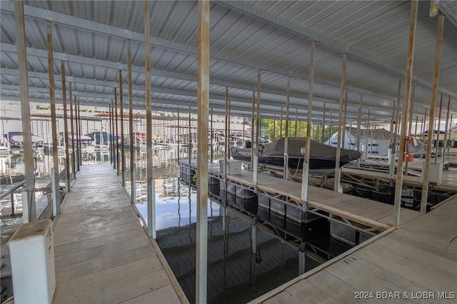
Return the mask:
MULTIPOLYGON (((177 178, 156 180, 156 242, 194 303, 196 191, 181 181, 179 192, 173 192, 172 183, 178 189, 177 178)), ((136 206, 146 218, 146 202, 136 206)), ((268 218, 259 217, 253 224, 253 215, 237 209, 229 200, 210 198, 208 206, 209 303, 246 303, 296 278, 300 246, 306 251, 306 271, 351 248, 329 236, 326 219, 283 225, 283 220, 268 222, 268 218), (288 231, 291 226, 294 229, 288 231)))

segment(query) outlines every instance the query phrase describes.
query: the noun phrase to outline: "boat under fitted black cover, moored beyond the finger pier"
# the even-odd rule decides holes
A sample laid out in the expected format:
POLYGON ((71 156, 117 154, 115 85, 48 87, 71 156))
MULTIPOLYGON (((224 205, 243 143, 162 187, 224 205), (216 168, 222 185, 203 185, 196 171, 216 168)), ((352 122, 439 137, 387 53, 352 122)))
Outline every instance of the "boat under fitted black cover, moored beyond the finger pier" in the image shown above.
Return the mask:
MULTIPOLYGON (((262 145, 259 149, 258 163, 265 163, 273 166, 283 166, 284 164, 284 143, 285 137, 279 138, 271 143, 262 145)), ((301 148, 306 146, 306 137, 288 138, 288 167, 293 170, 303 169, 304 156, 301 148)), ((233 159, 238 161, 251 161, 251 149, 231 148, 233 159)), ((355 161, 361 157, 361 153, 354 150, 341 149, 340 167, 346 163, 355 161)), ((335 169, 336 148, 327 146, 317 141, 311 141, 311 151, 309 156, 310 171, 328 171, 335 169)))

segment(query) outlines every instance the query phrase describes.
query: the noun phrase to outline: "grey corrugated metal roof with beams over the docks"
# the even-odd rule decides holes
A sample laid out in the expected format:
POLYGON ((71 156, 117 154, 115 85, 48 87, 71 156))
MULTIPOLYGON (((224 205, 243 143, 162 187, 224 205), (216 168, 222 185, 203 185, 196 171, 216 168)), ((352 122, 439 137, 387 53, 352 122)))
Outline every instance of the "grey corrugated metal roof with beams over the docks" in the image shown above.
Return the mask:
MULTIPOLYGON (((440 91, 457 113, 455 1, 441 1, 446 21, 440 91)), ((144 108, 143 1, 25 1, 31 101, 49 98, 46 22, 52 24, 56 98, 60 65, 83 102, 107 106, 122 70, 128 103, 127 41, 131 41, 134 105, 144 108)), ((419 1, 413 75, 413 111, 423 115, 431 99, 437 18, 419 1)), ((151 1, 153 108, 196 111, 196 1, 151 1)), ((0 97, 19 99, 14 5, 0 2, 0 97)), ((316 41, 313 116, 338 112, 343 52, 348 52, 348 119, 363 114, 391 118, 398 80, 406 71, 410 1, 213 1, 211 2, 210 107, 224 112, 225 90, 233 113, 251 115, 252 92, 261 69, 261 112, 279 114, 291 78, 291 116, 306 118, 311 41, 316 41)), ((403 83, 404 88, 404 83, 403 83)), ((446 100, 446 99, 445 99, 446 100)), ((124 105, 126 106, 126 105, 124 105)), ((438 114, 437 114, 438 115, 438 114)))

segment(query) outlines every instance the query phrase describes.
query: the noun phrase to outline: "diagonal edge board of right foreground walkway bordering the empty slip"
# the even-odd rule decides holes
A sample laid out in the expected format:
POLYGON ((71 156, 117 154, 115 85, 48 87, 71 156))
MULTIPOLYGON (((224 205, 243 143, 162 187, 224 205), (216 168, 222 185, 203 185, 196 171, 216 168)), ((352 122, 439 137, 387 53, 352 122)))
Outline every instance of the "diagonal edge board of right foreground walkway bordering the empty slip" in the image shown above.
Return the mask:
POLYGON ((251 302, 248 302, 248 304, 263 303, 265 300, 273 298, 275 295, 277 295, 278 293, 281 293, 283 290, 290 287, 291 285, 293 285, 301 280, 305 280, 306 278, 311 277, 311 275, 314 275, 314 274, 320 272, 321 270, 324 270, 328 266, 333 265, 334 263, 337 263, 340 260, 343 260, 348 255, 351 255, 354 252, 360 250, 361 248, 364 248, 367 245, 370 245, 371 243, 375 242, 376 240, 383 238, 384 236, 390 234, 394 230, 396 230, 396 228, 388 228, 387 230, 384 230, 383 232, 379 233, 378 235, 373 236, 373 238, 370 238, 370 239, 366 240, 365 242, 363 242, 359 245, 356 245, 356 247, 353 247, 350 250, 347 250, 345 253, 341 253, 341 255, 338 255, 335 258, 328 260, 326 263, 323 263, 323 264, 319 265, 318 267, 313 268, 313 269, 307 271, 306 273, 303 273, 303 275, 300 275, 292 280, 289 280, 288 282, 284 283, 283 285, 278 286, 277 288, 275 288, 273 290, 270 290, 268 293, 265 293, 265 294, 261 295, 260 297, 254 299, 254 300, 251 300, 251 302))

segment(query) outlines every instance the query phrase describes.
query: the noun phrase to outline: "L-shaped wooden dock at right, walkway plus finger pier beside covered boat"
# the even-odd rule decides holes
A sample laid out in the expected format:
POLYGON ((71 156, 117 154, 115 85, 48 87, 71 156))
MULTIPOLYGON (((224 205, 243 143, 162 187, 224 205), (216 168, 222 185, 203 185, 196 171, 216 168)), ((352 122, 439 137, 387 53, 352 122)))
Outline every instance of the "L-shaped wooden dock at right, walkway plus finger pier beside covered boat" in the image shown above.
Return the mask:
MULTIPOLYGON (((181 161, 189 166, 189 161, 181 161)), ((195 161, 191 168, 196 169, 195 161)), ((224 178, 219 164, 209 174, 224 178)), ((346 169, 345 169, 346 170, 346 169)), ((226 181, 253 189, 253 173, 226 175, 226 181)), ((301 184, 258 175, 258 193, 283 196, 300 203, 301 184), (275 194, 276 193, 276 194, 275 194)), ((457 267, 457 194, 426 214, 401 208, 400 226, 393 227, 393 206, 386 203, 308 188, 308 208, 378 228, 381 233, 356 245, 251 303, 363 303, 413 300, 416 303, 455 303, 457 267)))

